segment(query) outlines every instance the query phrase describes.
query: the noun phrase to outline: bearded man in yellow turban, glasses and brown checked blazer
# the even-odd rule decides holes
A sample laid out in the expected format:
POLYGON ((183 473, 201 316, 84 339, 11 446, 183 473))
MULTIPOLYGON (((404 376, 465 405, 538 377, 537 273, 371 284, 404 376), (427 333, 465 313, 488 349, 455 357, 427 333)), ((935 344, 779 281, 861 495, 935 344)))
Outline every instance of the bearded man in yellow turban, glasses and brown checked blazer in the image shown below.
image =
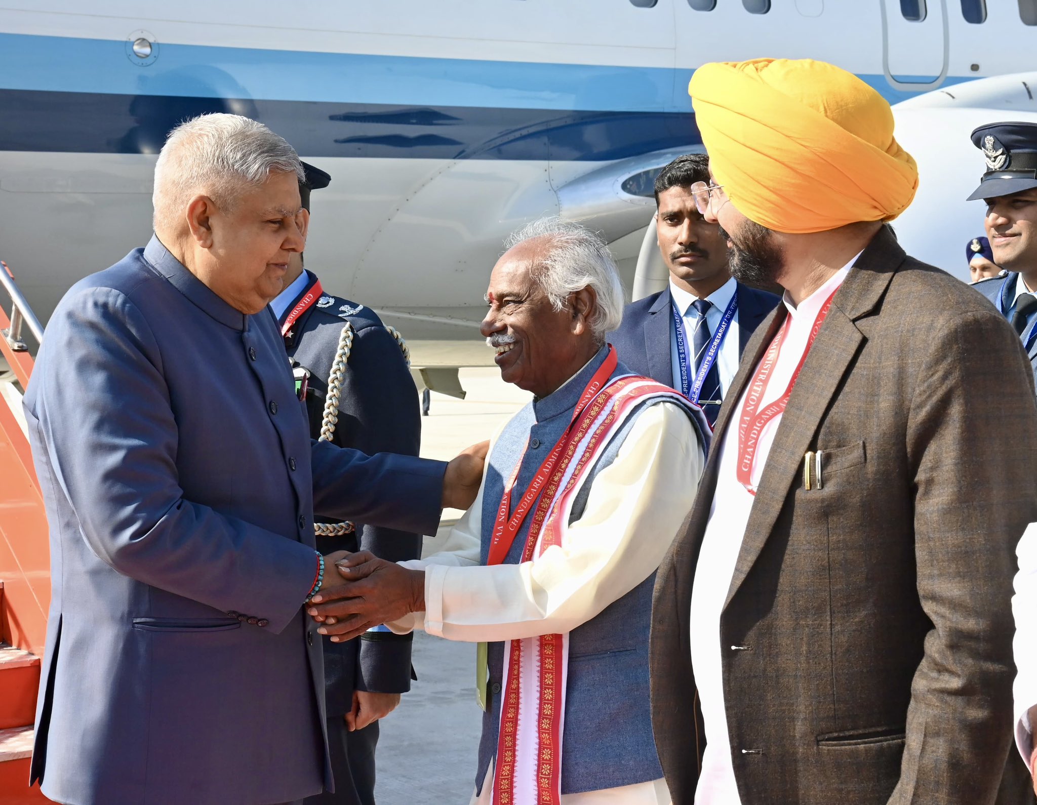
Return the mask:
POLYGON ((882 225, 918 174, 867 84, 759 59, 706 64, 690 92, 699 210, 736 279, 785 295, 660 567, 652 718, 673 800, 1021 802, 1009 600, 1037 417, 1018 338, 882 225))

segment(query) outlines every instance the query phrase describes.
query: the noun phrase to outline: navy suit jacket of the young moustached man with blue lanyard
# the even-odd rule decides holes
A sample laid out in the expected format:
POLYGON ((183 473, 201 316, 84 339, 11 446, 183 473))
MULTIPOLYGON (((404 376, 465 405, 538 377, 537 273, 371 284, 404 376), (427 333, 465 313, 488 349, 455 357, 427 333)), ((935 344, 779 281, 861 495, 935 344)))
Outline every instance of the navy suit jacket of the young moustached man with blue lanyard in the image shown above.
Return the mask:
MULTIPOLYGON (((781 299, 765 290, 756 290, 738 283, 738 357, 760 322, 775 309, 781 299)), ((670 287, 632 302, 623 309, 623 323, 609 335, 619 360, 632 371, 673 386, 673 365, 670 362, 670 327, 673 321, 670 287)))

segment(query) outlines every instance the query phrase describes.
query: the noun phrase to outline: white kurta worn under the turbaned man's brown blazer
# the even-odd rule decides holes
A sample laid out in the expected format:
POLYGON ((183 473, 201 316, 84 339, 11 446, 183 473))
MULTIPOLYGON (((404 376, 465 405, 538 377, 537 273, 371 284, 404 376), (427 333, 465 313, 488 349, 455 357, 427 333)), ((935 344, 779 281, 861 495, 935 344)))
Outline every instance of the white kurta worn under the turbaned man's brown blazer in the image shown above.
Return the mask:
MULTIPOLYGON (((852 260, 849 265, 852 265, 852 260)), ((785 393, 807 348, 817 313, 832 292, 846 278, 849 265, 836 272, 828 282, 803 300, 798 307, 793 306, 786 295, 784 302, 789 314, 788 332, 758 411, 785 393)), ((702 772, 695 792, 696 805, 737 805, 740 802, 734 767, 731 764, 727 712, 724 707, 720 616, 755 499, 735 475, 738 463, 738 414, 745 401, 746 394, 742 392, 722 442, 719 445, 713 443, 713 449, 720 450, 717 489, 692 585, 692 668, 706 733, 702 772)), ((780 422, 781 415, 778 415, 760 433, 756 462, 750 476, 754 487, 759 485, 780 422)))

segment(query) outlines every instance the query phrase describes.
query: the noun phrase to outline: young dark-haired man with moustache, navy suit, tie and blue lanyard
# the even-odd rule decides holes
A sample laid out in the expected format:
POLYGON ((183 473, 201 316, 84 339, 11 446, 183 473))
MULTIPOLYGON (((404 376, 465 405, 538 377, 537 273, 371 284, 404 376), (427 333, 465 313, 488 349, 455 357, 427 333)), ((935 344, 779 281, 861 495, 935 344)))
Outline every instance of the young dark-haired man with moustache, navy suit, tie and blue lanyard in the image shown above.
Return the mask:
POLYGON ((626 306, 611 336, 632 370, 681 391, 711 425, 741 353, 778 297, 731 277, 727 235, 695 206, 692 185, 709 184, 704 154, 678 157, 655 179, 655 233, 670 284, 626 306))

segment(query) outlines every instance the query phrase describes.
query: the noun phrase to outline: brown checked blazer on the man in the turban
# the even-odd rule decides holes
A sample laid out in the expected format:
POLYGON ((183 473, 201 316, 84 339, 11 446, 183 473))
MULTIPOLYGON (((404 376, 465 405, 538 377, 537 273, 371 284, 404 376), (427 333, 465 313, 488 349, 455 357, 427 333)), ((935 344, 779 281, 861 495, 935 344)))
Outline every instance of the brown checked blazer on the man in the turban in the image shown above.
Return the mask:
MULTIPOLYGON (((720 445, 785 315, 779 305, 746 348, 655 583, 652 720, 674 805, 694 802, 704 749, 689 619, 720 445)), ((982 805, 1006 758, 1012 793, 997 801, 1026 801, 1026 769, 1008 756, 1009 602, 1035 487, 1037 406, 1018 337, 884 227, 800 374, 721 617, 742 805, 982 805), (824 485, 808 492, 804 453, 818 449, 824 485)))

